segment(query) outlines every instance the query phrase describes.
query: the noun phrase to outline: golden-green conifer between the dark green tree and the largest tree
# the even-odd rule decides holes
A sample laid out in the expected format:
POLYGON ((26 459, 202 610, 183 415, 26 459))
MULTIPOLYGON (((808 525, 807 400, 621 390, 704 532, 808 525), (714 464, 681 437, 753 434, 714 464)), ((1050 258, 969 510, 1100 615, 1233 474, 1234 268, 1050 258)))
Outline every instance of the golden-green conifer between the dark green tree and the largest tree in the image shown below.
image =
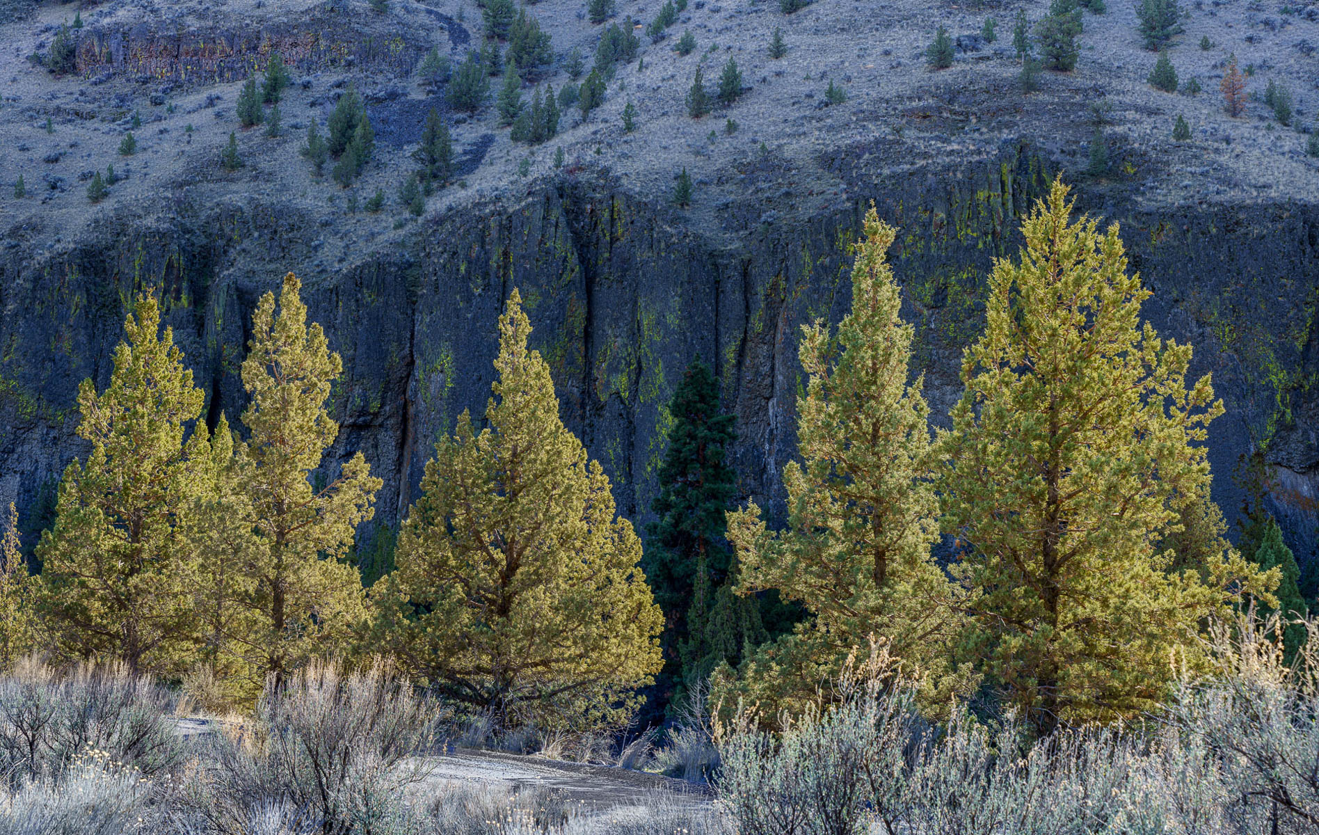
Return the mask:
POLYGON ((923 675, 934 706, 966 682, 942 645, 956 634, 952 587, 930 555, 938 501, 927 479, 929 408, 910 380, 914 330, 885 253, 893 227, 872 206, 852 266, 852 310, 831 334, 802 328, 807 373, 797 401, 801 462, 783 468, 787 525, 760 508, 728 516, 744 590, 778 588, 813 615, 741 670, 748 699, 801 710, 871 636, 923 675))

